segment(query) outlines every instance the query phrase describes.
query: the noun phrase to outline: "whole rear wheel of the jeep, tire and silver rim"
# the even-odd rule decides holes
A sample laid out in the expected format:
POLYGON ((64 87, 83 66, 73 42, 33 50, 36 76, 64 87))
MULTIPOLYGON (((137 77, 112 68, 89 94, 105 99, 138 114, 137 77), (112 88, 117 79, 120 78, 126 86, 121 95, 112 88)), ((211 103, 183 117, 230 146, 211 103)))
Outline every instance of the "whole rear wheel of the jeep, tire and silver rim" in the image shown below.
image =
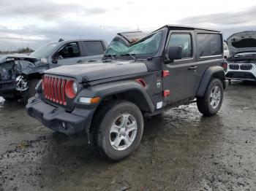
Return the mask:
POLYGON ((217 114, 223 101, 223 85, 219 79, 212 79, 205 95, 197 98, 197 108, 207 116, 217 114))

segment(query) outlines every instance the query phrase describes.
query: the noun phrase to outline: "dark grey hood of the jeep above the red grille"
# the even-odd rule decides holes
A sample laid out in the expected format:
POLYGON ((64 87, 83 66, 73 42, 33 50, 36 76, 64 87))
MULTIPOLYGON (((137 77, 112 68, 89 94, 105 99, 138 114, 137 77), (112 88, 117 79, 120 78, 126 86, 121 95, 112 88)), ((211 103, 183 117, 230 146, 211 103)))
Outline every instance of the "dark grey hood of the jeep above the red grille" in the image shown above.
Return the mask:
POLYGON ((129 74, 140 74, 147 72, 145 63, 135 61, 116 61, 114 63, 88 63, 69 66, 60 66, 50 69, 47 74, 56 74, 66 77, 73 77, 78 82, 94 81, 97 79, 106 79, 110 77, 120 77, 129 74))

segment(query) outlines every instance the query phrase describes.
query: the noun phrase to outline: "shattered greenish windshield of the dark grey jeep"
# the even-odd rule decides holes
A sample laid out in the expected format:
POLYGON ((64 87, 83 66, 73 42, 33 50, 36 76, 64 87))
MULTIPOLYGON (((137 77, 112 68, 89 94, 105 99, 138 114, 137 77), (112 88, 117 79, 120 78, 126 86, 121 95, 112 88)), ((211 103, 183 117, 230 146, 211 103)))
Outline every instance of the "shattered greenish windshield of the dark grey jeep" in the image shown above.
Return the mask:
POLYGON ((127 47, 122 50, 113 50, 108 55, 122 56, 122 55, 139 55, 139 56, 150 56, 157 53, 160 42, 162 40, 162 31, 159 31, 146 39, 143 39, 137 44, 133 44, 131 47, 127 47))

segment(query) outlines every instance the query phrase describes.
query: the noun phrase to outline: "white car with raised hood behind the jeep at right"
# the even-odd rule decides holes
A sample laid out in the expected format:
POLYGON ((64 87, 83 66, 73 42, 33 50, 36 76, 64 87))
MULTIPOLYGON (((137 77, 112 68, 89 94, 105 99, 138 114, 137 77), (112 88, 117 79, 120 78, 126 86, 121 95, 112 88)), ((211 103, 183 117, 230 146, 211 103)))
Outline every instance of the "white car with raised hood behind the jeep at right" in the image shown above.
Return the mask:
POLYGON ((227 39, 230 57, 226 79, 256 81, 256 31, 244 31, 227 39))

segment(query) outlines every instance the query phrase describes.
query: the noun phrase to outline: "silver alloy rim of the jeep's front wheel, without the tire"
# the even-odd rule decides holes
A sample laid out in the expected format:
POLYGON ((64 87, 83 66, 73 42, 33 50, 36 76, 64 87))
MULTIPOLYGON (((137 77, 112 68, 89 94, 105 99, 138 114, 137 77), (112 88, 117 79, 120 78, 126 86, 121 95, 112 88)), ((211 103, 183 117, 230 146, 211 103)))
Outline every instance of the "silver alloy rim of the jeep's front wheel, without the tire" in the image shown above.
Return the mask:
POLYGON ((110 128, 110 145, 118 151, 127 149, 135 140, 138 124, 132 114, 121 114, 110 128))

